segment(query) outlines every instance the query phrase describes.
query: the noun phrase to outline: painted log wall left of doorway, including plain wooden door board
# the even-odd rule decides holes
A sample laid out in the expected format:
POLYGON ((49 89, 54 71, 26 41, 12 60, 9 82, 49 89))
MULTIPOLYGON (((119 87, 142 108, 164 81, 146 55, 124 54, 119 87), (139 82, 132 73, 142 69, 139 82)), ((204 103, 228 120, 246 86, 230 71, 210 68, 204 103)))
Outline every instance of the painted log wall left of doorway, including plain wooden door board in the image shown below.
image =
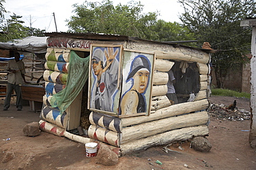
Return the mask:
POLYGON ((43 97, 44 108, 41 111, 42 119, 63 129, 71 130, 80 126, 80 95, 74 100, 64 113, 50 104, 51 97, 66 87, 70 50, 47 48, 44 80, 46 95, 43 97), (72 113, 72 116, 70 116, 72 113))

